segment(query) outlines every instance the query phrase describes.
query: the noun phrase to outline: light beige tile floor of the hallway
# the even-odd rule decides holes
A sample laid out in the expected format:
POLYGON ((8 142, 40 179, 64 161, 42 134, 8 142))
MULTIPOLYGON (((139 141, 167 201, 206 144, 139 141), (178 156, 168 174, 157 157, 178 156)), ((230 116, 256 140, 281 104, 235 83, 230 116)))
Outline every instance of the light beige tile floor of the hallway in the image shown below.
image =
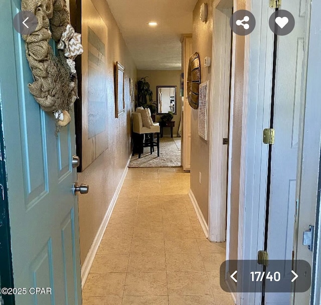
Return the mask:
POLYGON ((129 168, 83 290, 83 305, 232 305, 181 168, 129 168))

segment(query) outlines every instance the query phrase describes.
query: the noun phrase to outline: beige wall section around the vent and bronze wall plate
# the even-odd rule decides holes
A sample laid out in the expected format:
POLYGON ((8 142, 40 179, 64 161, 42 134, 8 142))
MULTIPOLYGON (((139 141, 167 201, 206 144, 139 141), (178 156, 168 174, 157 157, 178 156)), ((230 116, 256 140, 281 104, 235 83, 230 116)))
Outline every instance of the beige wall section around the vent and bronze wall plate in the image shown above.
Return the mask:
MULTIPOLYGON (((202 63, 204 63, 206 56, 212 57, 213 33, 213 6, 211 2, 208 2, 208 21, 203 23, 200 20, 200 6, 203 2, 203 0, 199 0, 193 12, 193 53, 200 54, 201 82, 211 81, 211 67, 205 68, 202 63)), ((208 222, 209 141, 205 141, 198 135, 198 110, 194 109, 192 109, 191 121, 191 189, 206 222, 208 222), (202 174, 201 184, 199 172, 202 174)))

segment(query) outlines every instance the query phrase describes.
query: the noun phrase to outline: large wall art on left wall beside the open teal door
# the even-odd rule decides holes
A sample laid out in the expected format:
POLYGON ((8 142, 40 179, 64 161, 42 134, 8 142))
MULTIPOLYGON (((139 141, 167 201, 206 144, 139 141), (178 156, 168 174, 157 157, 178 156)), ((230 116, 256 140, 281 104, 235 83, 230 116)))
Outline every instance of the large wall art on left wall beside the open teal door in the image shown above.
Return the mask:
POLYGON ((82 99, 75 105, 78 171, 108 149, 108 28, 91 1, 83 5, 82 99))

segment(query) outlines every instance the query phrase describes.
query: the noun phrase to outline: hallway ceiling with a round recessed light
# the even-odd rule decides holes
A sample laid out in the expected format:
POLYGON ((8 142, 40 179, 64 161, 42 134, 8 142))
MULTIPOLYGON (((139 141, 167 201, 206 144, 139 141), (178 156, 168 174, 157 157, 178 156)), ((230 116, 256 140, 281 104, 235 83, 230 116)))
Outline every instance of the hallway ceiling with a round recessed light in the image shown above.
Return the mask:
POLYGON ((197 0, 107 0, 138 70, 180 70, 197 0), (148 26, 149 21, 158 23, 148 26))

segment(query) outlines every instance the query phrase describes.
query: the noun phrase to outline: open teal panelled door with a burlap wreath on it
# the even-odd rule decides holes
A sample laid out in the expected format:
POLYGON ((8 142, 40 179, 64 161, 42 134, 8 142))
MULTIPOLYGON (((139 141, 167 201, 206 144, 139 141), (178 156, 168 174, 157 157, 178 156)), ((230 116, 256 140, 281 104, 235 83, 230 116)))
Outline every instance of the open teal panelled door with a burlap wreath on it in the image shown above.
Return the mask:
POLYGON ((72 192, 77 181, 74 121, 56 137, 53 115, 29 93, 33 77, 24 42, 13 27, 20 8, 21 0, 0 1, 0 100, 13 276, 15 287, 27 288, 15 296, 16 304, 81 305, 78 202, 72 192), (35 294, 32 287, 46 293, 35 294))

